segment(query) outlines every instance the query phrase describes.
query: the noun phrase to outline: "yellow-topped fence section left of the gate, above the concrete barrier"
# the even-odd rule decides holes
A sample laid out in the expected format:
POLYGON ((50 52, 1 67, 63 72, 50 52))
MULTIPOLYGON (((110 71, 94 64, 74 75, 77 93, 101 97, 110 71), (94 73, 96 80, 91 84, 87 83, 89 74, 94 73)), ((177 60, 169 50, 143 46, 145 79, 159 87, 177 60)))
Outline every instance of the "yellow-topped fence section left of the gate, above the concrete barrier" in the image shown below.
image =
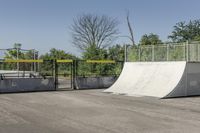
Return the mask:
POLYGON ((48 78, 53 76, 54 76, 54 63, 52 60, 0 61, 1 78, 48 78), (19 69, 17 69, 17 64, 19 64, 19 69))

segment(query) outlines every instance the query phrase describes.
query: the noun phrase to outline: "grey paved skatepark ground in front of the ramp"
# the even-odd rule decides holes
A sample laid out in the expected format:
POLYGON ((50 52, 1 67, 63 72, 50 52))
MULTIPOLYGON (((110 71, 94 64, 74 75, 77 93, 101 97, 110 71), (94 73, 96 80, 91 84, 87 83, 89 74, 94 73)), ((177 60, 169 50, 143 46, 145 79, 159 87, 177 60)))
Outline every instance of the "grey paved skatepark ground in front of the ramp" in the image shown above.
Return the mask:
POLYGON ((0 133, 183 133, 200 130, 200 97, 78 90, 0 95, 0 133))

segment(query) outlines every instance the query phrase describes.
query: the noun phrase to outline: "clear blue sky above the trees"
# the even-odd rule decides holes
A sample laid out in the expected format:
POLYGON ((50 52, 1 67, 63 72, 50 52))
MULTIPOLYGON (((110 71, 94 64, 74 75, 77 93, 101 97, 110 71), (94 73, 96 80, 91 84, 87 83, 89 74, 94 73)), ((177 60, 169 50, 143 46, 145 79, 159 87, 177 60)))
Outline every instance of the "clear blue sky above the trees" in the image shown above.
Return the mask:
MULTIPOLYGON (((40 53, 50 48, 78 54, 71 43, 69 27, 83 13, 117 18, 121 36, 128 35, 126 11, 136 42, 145 33, 164 41, 180 21, 200 19, 200 0, 0 0, 0 48, 21 43, 40 53)), ((119 38, 116 43, 128 43, 119 38)))

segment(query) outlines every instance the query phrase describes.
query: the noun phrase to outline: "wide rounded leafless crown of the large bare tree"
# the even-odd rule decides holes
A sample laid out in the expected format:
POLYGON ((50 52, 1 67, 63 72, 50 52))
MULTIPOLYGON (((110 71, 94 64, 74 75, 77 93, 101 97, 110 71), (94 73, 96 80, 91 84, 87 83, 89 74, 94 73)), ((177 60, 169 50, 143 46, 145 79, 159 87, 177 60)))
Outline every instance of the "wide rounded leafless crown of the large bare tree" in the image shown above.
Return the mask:
POLYGON ((118 34, 118 22, 108 16, 92 14, 74 19, 71 26, 73 44, 80 50, 108 47, 118 34))

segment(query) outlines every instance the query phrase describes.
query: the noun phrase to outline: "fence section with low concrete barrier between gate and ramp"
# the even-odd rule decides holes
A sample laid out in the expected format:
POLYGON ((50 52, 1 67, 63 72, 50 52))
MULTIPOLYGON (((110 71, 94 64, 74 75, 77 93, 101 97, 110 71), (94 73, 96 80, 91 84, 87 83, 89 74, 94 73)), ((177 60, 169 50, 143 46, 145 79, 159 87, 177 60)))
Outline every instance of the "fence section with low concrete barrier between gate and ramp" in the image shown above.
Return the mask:
POLYGON ((76 89, 102 89, 110 87, 118 78, 123 61, 76 60, 76 89))

